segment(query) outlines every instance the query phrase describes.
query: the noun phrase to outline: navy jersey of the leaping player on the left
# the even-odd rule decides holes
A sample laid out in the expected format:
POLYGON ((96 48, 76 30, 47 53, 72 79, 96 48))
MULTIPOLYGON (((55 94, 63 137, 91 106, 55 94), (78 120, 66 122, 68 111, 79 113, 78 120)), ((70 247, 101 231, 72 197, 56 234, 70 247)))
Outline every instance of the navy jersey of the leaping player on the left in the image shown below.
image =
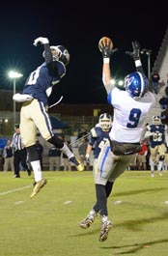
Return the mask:
POLYGON ((44 105, 48 104, 48 97, 52 92, 52 86, 59 83, 66 74, 65 65, 62 62, 54 61, 57 72, 51 75, 45 63, 32 71, 26 80, 23 94, 31 95, 34 99, 40 100, 44 105))

